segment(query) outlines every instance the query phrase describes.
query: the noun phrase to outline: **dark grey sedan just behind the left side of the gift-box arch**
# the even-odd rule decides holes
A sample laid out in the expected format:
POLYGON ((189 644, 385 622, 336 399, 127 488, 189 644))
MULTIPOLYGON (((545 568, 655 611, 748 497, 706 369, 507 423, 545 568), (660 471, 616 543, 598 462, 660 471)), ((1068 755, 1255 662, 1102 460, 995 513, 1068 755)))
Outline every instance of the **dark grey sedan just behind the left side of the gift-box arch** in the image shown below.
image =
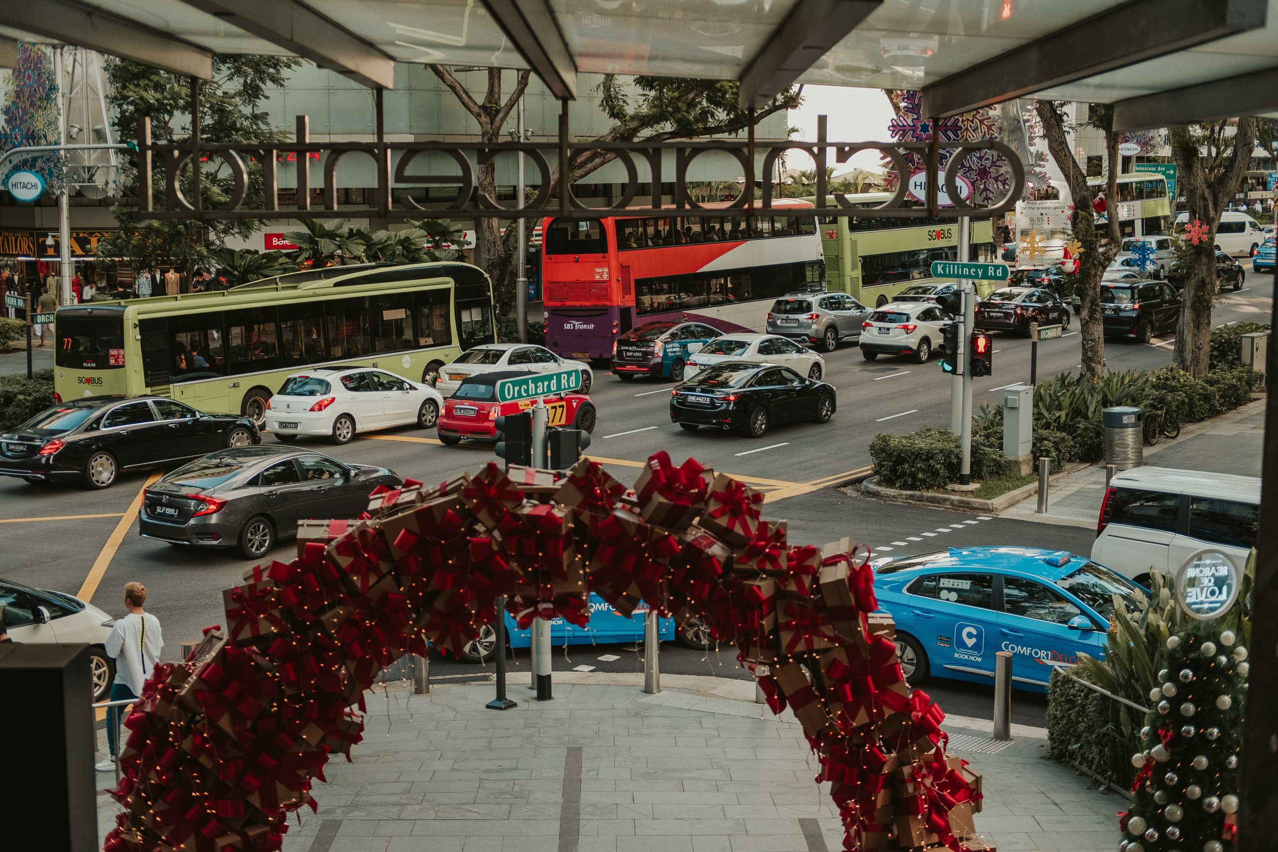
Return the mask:
POLYGON ((348 465, 308 450, 265 446, 213 452, 150 485, 138 533, 171 544, 236 548, 259 559, 307 517, 355 517, 378 485, 404 484, 394 471, 348 465))

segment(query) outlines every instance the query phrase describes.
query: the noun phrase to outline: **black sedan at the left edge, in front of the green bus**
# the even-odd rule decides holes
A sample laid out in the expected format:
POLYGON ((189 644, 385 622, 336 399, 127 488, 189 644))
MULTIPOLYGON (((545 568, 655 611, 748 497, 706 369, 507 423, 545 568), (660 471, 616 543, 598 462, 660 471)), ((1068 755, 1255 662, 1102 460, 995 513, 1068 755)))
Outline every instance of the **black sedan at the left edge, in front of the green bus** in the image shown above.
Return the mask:
POLYGON ((261 443, 249 418, 204 414, 164 396, 89 396, 0 434, 0 476, 110 488, 121 470, 158 468, 261 443))

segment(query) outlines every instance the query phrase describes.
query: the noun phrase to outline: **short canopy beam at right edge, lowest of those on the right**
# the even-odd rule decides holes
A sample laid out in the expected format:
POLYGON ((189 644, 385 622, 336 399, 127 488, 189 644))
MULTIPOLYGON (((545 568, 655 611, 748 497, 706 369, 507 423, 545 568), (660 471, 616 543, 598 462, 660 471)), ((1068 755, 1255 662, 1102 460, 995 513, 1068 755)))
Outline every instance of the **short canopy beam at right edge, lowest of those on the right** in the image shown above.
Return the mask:
POLYGON ((1278 110, 1278 66, 1114 103, 1114 130, 1218 121, 1278 110))

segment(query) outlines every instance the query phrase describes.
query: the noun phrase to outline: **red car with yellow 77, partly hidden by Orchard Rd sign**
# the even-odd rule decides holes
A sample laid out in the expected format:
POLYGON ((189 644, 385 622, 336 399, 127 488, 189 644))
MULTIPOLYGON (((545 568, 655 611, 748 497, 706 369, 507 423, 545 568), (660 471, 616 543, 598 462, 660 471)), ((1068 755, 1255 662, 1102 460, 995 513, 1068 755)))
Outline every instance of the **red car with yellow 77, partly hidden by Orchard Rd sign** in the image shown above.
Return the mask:
MULTIPOLYGON (((440 441, 451 446, 463 438, 496 443, 497 418, 527 411, 535 400, 497 401, 497 382, 532 376, 527 370, 501 370, 468 376, 452 396, 443 401, 440 414, 440 441)), ((542 397, 550 409, 547 425, 571 427, 585 433, 594 430, 594 402, 584 393, 556 393, 542 397)))

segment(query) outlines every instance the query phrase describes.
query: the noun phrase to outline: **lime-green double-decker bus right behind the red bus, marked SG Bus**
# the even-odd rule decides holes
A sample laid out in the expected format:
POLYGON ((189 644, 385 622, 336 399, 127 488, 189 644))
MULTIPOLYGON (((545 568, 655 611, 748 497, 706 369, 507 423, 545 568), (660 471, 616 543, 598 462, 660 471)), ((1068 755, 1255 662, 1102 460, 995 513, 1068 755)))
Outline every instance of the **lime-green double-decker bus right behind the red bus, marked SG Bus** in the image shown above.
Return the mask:
MULTIPOLYGON (((891 193, 845 195, 852 207, 869 209, 892 198, 891 193)), ((815 202, 815 197, 806 201, 815 202)), ((832 197, 828 206, 836 204, 832 197)), ((937 284, 933 261, 958 259, 958 222, 952 218, 892 218, 866 212, 863 217, 823 217, 818 227, 826 258, 826 284, 865 305, 881 307, 909 286, 937 284)), ((973 261, 998 259, 994 227, 989 220, 973 221, 973 261)), ((988 295, 998 285, 976 281, 988 295)))

